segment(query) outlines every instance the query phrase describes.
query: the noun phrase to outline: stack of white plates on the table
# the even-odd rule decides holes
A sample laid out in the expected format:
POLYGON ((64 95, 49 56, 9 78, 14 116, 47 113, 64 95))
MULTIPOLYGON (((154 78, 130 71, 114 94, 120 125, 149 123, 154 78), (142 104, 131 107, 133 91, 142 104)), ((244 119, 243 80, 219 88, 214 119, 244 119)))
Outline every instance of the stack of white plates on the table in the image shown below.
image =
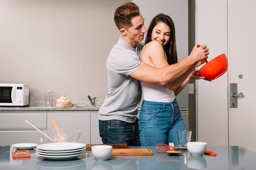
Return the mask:
POLYGON ((36 155, 53 160, 74 159, 83 155, 85 150, 86 144, 81 143, 49 143, 36 146, 36 155))

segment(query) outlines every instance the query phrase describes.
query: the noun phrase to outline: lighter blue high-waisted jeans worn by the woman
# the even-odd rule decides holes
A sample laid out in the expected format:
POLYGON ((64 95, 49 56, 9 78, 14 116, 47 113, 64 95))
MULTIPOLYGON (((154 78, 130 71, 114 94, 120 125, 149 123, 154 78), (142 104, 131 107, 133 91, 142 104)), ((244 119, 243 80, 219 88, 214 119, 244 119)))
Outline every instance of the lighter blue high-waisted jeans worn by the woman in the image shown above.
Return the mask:
POLYGON ((141 146, 159 143, 179 146, 177 130, 186 130, 177 100, 173 102, 142 101, 139 114, 139 138, 141 146))

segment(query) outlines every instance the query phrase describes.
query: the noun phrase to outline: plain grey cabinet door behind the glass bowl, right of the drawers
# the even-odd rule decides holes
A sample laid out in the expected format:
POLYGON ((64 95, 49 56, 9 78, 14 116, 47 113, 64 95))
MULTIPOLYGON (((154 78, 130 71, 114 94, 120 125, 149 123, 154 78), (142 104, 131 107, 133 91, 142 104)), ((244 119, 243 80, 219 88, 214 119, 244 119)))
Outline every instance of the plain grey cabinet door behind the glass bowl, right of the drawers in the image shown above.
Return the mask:
POLYGON ((54 120, 58 129, 79 129, 80 143, 90 144, 90 111, 48 111, 47 129, 53 129, 50 120, 54 120))

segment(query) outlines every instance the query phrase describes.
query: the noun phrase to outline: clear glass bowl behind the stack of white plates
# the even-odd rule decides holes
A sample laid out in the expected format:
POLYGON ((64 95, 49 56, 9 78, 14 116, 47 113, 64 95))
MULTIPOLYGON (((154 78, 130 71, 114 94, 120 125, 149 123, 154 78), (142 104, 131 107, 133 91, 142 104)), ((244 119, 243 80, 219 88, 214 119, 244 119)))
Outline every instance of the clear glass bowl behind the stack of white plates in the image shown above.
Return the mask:
MULTIPOLYGON (((67 142, 78 142, 81 134, 81 130, 76 130, 76 129, 59 129, 61 132, 61 135, 67 142)), ((59 142, 60 137, 58 136, 58 133, 54 129, 49 129, 49 130, 43 130, 43 133, 45 135, 48 135, 55 141, 59 142)), ((47 144, 47 143, 54 143, 52 140, 48 139, 43 135, 42 133, 39 133, 40 135, 40 141, 42 144, 47 144)))

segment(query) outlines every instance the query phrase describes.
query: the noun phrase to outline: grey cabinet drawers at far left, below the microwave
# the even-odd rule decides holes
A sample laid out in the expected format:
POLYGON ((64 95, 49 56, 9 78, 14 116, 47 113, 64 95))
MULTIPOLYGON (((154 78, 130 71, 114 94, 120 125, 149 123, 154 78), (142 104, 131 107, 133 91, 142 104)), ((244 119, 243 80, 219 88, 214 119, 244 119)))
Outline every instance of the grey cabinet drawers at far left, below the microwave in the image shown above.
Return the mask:
POLYGON ((46 129, 46 111, 1 111, 0 112, 0 146, 16 143, 40 144, 39 132, 28 120, 39 129, 46 129))

